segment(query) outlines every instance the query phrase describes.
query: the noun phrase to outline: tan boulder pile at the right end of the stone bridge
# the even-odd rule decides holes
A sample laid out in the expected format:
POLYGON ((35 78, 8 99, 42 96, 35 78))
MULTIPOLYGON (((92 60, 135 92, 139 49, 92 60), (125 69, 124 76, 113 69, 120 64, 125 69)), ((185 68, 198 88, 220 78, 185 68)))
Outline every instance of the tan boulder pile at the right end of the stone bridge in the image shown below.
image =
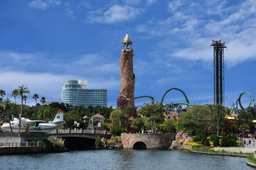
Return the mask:
POLYGON ((193 141, 193 138, 189 137, 187 133, 184 132, 177 132, 175 136, 175 141, 172 141, 171 149, 179 149, 182 150, 183 146, 186 143, 193 141))

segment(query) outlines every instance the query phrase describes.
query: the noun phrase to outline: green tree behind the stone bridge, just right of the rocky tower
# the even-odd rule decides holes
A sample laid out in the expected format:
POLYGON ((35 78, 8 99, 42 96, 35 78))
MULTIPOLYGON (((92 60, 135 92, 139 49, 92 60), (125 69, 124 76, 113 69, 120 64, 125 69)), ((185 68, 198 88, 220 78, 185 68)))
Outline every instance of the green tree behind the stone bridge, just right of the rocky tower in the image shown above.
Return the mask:
POLYGON ((143 115, 143 117, 150 118, 151 131, 154 132, 156 129, 156 123, 162 124, 164 122, 164 111, 163 104, 157 101, 156 103, 144 103, 138 113, 143 115))

